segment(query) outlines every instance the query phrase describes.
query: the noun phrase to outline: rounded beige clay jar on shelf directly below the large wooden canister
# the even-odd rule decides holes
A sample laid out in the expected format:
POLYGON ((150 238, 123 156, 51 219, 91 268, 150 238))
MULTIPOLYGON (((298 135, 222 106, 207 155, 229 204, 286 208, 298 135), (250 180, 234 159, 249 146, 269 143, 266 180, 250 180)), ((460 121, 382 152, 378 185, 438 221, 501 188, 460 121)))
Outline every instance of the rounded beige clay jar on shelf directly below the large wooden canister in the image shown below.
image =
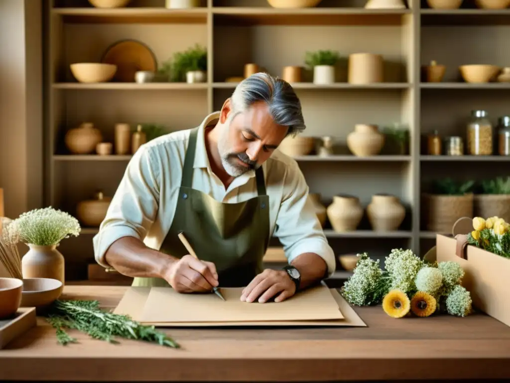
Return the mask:
POLYGON ((349 150, 358 157, 374 156, 384 146, 385 136, 377 125, 356 124, 354 131, 347 135, 349 150))

